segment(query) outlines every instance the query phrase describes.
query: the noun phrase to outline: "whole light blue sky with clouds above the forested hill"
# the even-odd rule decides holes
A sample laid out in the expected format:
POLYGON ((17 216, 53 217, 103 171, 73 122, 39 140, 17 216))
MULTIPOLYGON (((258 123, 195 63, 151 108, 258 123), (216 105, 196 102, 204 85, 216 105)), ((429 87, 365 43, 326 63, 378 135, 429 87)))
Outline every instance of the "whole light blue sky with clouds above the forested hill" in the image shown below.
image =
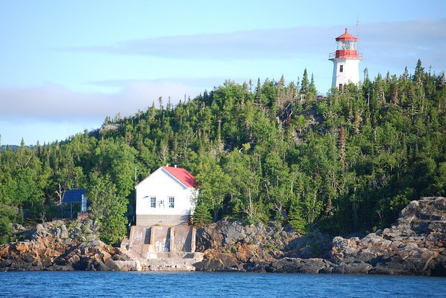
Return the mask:
POLYGON ((52 143, 231 79, 331 87, 337 36, 360 78, 446 68, 446 1, 0 0, 1 145, 52 143), (357 21, 359 20, 359 32, 357 21))

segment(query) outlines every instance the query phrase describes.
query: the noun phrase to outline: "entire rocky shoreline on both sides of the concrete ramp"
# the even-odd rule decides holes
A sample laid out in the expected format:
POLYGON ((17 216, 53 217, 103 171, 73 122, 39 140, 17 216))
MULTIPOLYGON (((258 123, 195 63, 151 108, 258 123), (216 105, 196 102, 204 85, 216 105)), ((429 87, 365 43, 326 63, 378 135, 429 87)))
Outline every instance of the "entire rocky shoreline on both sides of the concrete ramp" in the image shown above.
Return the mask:
MULTIPOLYGON (((0 246, 3 271, 144 270, 98 240, 89 219, 15 228, 22 239, 0 246)), ((197 251, 204 256, 197 271, 446 276, 446 198, 412 201, 392 227, 362 238, 222 220, 197 230, 197 251)))

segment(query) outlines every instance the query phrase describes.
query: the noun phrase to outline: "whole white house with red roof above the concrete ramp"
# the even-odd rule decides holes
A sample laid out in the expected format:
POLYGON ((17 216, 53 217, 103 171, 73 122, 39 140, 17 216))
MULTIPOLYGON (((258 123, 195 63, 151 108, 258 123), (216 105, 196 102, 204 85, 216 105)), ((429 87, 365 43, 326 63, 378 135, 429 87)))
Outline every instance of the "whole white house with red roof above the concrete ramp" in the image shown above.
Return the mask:
POLYGON ((135 189, 137 226, 188 224, 198 189, 194 176, 184 168, 162 166, 135 189))

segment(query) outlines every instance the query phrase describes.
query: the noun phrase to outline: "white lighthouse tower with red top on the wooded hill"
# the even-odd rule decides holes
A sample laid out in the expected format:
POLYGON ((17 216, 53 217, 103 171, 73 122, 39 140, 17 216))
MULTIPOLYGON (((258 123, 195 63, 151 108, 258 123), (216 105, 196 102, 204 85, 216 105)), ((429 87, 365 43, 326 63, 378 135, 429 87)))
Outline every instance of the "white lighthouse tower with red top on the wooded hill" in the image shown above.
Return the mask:
POLYGON ((341 90, 347 83, 359 84, 362 54, 357 52, 357 38, 347 28, 336 38, 336 52, 330 53, 329 60, 333 61, 332 87, 341 90))

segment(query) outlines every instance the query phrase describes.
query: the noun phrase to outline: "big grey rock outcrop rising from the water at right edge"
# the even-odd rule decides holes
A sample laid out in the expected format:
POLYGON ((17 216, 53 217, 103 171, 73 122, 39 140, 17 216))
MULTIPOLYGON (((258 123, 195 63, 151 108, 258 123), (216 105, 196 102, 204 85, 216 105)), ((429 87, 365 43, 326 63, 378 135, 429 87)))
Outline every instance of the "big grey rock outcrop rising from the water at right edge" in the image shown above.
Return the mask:
POLYGON ((446 276, 446 198, 422 198, 397 223, 362 239, 335 237, 334 272, 446 276))

